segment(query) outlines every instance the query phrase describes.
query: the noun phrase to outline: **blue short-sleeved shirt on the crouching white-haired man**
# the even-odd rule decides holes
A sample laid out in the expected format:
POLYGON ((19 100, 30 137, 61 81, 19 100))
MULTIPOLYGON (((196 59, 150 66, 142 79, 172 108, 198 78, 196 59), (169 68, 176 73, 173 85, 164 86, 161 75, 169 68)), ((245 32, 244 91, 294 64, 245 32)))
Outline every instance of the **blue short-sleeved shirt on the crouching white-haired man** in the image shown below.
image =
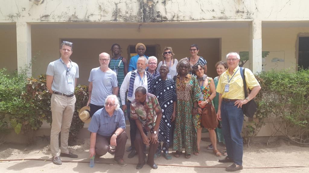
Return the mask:
POLYGON ((111 136, 118 128, 125 129, 125 116, 121 109, 115 110, 112 117, 105 108, 96 111, 88 127, 88 131, 98 133, 101 136, 111 136))

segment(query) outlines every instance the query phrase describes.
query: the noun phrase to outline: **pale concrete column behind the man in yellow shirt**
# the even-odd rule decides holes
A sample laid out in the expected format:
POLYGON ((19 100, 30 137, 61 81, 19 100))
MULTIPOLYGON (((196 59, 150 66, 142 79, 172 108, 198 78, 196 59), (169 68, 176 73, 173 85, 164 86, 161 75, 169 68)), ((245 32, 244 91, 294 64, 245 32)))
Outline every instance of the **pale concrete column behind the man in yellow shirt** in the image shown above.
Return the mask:
POLYGON ((262 71, 262 21, 249 25, 249 68, 253 73, 262 71))

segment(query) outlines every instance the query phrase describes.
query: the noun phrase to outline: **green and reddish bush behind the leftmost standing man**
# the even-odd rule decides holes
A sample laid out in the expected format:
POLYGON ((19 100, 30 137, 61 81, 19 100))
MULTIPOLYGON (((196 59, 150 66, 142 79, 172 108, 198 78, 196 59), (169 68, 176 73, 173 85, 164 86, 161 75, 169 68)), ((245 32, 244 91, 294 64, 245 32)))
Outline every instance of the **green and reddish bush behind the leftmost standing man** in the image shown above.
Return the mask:
MULTIPOLYGON (((73 115, 69 144, 77 139, 84 123, 78 117, 78 111, 87 104, 88 88, 78 85, 75 88, 76 104, 73 115)), ((46 87, 46 75, 38 79, 27 78, 26 73, 9 75, 0 70, 0 133, 7 132, 8 123, 17 134, 27 135, 27 143, 33 142, 33 132, 38 130, 43 121, 52 123, 50 110, 51 94, 46 87)))

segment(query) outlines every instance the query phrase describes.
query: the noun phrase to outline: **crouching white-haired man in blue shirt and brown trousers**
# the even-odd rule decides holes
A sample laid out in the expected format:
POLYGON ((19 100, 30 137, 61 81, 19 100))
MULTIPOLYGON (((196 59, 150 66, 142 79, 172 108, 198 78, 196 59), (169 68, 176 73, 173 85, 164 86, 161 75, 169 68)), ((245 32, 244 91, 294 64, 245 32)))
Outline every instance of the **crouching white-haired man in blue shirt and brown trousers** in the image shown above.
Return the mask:
POLYGON ((105 107, 93 114, 88 127, 90 135, 90 158, 95 155, 95 160, 107 152, 115 153, 114 161, 120 166, 127 164, 123 160, 127 134, 125 133, 125 116, 120 109, 116 95, 108 95, 105 99, 105 107), (112 151, 111 146, 116 146, 112 151))

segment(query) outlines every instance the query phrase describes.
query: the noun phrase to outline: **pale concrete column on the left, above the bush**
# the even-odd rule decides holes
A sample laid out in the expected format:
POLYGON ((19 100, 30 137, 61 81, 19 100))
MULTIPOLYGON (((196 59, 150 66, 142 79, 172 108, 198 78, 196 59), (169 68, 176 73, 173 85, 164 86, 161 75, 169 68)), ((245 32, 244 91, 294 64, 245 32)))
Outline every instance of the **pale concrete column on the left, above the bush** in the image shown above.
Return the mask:
MULTIPOLYGON (((31 62, 31 25, 26 22, 16 22, 16 41, 17 41, 17 68, 29 67, 31 62)), ((32 67, 28 69, 28 76, 32 75, 32 67)))

